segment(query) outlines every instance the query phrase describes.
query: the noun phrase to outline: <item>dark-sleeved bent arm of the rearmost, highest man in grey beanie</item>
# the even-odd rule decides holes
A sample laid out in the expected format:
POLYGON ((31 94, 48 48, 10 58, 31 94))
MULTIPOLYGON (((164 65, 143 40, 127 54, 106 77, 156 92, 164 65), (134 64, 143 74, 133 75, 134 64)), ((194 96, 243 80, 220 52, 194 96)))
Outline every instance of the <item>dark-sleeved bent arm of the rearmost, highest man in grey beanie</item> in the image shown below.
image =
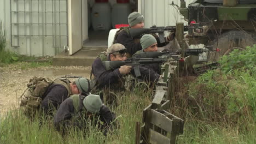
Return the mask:
POLYGON ((117 43, 123 44, 127 52, 133 55, 138 50, 142 50, 141 43, 135 43, 128 33, 122 31, 118 34, 117 43))

